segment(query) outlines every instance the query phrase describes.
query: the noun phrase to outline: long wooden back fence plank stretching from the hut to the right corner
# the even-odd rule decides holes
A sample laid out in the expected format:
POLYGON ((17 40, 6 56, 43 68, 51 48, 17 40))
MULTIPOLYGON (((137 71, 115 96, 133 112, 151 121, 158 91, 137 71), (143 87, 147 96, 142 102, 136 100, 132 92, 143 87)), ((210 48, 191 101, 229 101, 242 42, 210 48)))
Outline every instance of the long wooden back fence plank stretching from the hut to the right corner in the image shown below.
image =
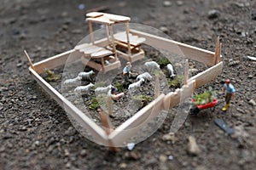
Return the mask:
POLYGON ((196 48, 182 42, 157 37, 142 31, 130 30, 130 32, 138 37, 146 38, 145 43, 159 49, 165 49, 175 54, 184 55, 187 59, 193 59, 206 65, 215 65, 214 53, 205 49, 196 48))

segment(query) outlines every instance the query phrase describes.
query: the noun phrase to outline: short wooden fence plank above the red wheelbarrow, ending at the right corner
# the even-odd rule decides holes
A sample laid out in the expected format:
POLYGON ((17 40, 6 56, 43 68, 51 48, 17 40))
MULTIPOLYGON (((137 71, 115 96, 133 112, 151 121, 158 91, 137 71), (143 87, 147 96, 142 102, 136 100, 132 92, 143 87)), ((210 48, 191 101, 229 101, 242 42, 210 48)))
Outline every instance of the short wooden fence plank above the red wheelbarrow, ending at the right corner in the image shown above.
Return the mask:
POLYGON ((195 80, 195 88, 200 88, 202 85, 207 82, 211 82, 215 80, 218 75, 221 74, 223 68, 223 61, 219 62, 217 65, 212 66, 206 71, 202 71, 201 73, 195 75, 194 77, 189 78, 189 82, 195 80))

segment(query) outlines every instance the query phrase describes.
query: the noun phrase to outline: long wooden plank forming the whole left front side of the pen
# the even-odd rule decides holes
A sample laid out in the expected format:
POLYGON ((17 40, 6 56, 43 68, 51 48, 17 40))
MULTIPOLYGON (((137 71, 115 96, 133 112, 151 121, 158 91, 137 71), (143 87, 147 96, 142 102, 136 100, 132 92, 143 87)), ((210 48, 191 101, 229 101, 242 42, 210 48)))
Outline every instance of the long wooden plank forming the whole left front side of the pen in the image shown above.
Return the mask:
POLYGON ((80 111, 75 105, 69 102, 66 98, 64 98, 59 92, 55 90, 55 88, 51 87, 48 82, 45 82, 42 77, 38 75, 36 71, 33 71, 31 67, 29 67, 29 71, 32 74, 32 77, 38 82, 38 84, 44 88, 44 90, 53 98, 55 101, 61 105, 61 107, 67 111, 67 113, 72 116, 79 124, 85 127, 89 133, 91 133, 96 141, 101 144, 108 144, 108 136, 95 122, 90 120, 88 116, 86 116, 82 111, 80 111))

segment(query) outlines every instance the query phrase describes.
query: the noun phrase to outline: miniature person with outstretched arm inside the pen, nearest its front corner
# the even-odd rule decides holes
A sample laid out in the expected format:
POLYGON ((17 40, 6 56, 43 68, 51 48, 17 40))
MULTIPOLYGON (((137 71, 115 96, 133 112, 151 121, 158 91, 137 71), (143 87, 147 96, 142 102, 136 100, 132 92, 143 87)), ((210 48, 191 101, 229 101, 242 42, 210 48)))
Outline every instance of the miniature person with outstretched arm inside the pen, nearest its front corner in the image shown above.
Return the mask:
POLYGON ((124 93, 118 94, 118 89, 117 88, 111 88, 108 90, 108 95, 107 95, 107 105, 108 105, 108 116, 113 118, 113 99, 118 99, 124 95, 124 93))

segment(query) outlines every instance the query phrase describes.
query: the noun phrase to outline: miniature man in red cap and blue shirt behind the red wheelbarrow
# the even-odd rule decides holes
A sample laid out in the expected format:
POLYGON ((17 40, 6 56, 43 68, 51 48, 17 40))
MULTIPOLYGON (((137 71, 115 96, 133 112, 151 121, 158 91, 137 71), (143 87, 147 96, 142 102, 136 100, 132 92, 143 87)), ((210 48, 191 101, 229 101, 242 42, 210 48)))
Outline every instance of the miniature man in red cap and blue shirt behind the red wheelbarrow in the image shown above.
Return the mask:
POLYGON ((228 110, 228 108, 230 106, 230 100, 235 99, 235 92, 236 92, 236 89, 230 83, 230 79, 227 79, 224 83, 224 93, 226 93, 226 95, 225 95, 226 105, 224 105, 224 108, 222 108, 222 111, 228 110))

